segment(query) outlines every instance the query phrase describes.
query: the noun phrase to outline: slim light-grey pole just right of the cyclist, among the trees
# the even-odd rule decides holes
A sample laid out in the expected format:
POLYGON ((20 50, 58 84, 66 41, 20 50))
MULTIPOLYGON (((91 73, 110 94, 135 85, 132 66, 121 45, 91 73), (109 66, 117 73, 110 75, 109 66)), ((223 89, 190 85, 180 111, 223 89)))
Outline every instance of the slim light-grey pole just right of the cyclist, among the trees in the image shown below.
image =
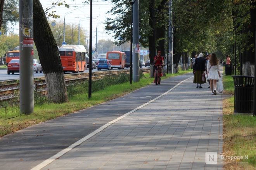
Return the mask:
POLYGON ((168 70, 170 70, 170 73, 173 74, 173 0, 169 0, 169 37, 168 37, 168 42, 169 42, 169 55, 170 59, 168 59, 168 70))

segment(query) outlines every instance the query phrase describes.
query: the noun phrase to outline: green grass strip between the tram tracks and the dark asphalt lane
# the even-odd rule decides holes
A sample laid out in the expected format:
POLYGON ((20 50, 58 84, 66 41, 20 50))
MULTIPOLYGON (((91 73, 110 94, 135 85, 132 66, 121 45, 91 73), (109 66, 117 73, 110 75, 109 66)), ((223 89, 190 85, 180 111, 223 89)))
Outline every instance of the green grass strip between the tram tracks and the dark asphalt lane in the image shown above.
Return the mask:
MULTIPOLYGON (((189 72, 191 71, 180 71, 176 74, 168 74, 162 77, 162 80, 189 72)), ((40 122, 64 116, 66 114, 73 113, 78 110, 91 107, 93 105, 101 104, 117 97, 121 97, 138 88, 147 86, 154 81, 154 78, 149 78, 149 74, 144 74, 144 76, 140 77, 140 82, 133 82, 132 84, 130 84, 128 81, 126 81, 125 83, 111 85, 106 88, 100 87, 98 83, 97 85, 99 85, 99 88, 101 88, 101 90, 94 90, 91 99, 88 99, 87 91, 81 92, 83 89, 81 89, 80 87, 76 87, 76 89, 73 90, 71 93, 70 91, 68 91, 69 102, 66 103, 53 104, 45 102, 45 97, 36 98, 34 112, 30 115, 18 116, 20 114, 18 105, 7 105, 5 106, 5 108, 2 106, 2 108, 0 108, 0 136, 14 133, 17 130, 26 128, 28 126, 32 126, 40 122), (3 121, 4 119, 7 119, 9 117, 15 118, 3 121)))

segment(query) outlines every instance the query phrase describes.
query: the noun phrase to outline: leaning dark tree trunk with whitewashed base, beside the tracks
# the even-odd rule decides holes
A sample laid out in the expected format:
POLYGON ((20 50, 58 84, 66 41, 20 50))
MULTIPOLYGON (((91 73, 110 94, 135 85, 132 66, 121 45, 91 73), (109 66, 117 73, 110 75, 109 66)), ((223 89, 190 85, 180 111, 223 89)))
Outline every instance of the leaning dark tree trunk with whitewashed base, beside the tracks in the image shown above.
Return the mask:
POLYGON ((48 90, 48 100, 67 102, 67 88, 59 50, 39 0, 33 0, 34 41, 42 64, 48 90))

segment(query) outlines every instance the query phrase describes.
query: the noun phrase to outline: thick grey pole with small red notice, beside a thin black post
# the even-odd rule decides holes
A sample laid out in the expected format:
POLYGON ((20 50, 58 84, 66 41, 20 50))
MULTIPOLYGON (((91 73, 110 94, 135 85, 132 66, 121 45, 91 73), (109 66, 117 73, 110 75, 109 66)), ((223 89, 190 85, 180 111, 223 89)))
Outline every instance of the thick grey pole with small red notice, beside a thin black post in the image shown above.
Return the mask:
POLYGON ((138 82, 140 80, 139 75, 139 57, 140 52, 135 50, 135 48, 138 48, 139 44, 139 0, 136 0, 134 2, 133 7, 133 46, 134 46, 134 52, 133 52, 133 82, 138 82))

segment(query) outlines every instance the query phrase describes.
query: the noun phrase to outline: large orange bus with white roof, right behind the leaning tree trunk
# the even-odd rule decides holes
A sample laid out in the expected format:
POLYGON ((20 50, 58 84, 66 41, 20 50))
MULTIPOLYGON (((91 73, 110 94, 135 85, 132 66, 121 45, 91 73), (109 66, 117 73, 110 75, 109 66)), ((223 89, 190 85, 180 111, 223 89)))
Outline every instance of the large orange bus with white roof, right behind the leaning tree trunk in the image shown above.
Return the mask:
POLYGON ((86 70, 87 52, 82 45, 63 45, 59 48, 63 71, 73 73, 86 70))

